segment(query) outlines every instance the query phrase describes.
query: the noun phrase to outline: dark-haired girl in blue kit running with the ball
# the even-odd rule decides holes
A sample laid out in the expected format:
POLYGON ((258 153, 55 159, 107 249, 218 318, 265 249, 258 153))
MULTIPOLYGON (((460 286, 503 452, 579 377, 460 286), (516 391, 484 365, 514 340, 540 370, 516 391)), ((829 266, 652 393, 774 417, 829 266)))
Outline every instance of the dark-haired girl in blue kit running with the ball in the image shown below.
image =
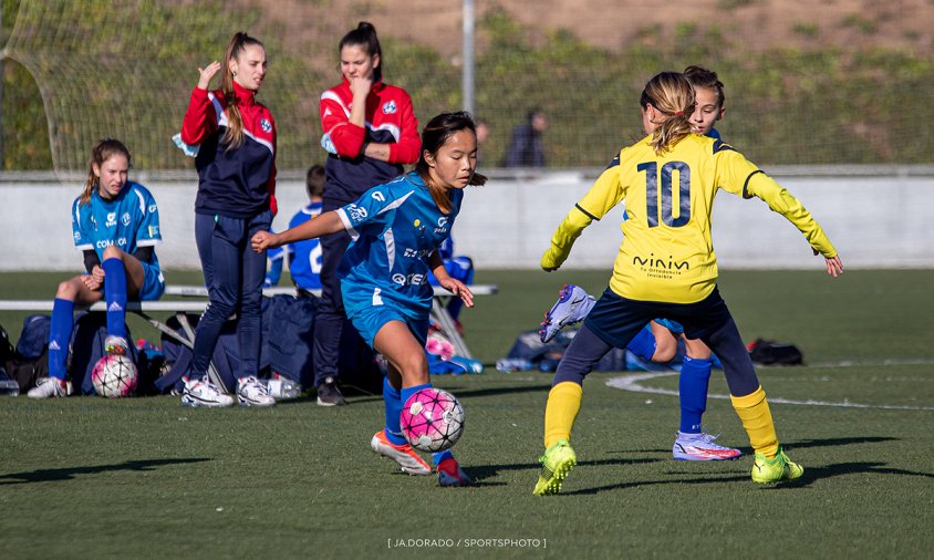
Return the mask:
MULTIPOLYGON (((411 475, 430 475, 432 467, 406 443, 399 426, 405 401, 432 386, 425 342, 433 289, 438 283, 468 307, 474 295, 445 270, 438 247, 450 236, 464 188, 482 185, 475 173, 477 136, 467 113, 444 113, 422 133, 422 155, 415 170, 377 185, 360 199, 298 227, 253 236, 258 252, 302 239, 347 231, 353 242, 338 274, 347 318, 388 362, 383 382, 386 425, 372 440, 373 450, 398 463, 411 475)), ((463 486, 470 479, 450 450, 433 454, 440 486, 463 486)))

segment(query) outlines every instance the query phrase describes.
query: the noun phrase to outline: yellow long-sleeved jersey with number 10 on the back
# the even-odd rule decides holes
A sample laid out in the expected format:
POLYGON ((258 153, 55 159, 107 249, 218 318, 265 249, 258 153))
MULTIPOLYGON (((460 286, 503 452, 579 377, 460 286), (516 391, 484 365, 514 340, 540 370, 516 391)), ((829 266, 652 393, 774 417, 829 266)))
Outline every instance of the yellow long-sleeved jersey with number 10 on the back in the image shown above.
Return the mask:
POLYGON ((551 238, 541 267, 564 262, 574 240, 625 199, 623 242, 610 289, 639 301, 694 303, 714 290, 717 257, 710 212, 717 190, 758 197, 793 224, 826 258, 837 256, 801 203, 743 154, 719 139, 691 134, 658 155, 651 136, 620 151, 551 238))

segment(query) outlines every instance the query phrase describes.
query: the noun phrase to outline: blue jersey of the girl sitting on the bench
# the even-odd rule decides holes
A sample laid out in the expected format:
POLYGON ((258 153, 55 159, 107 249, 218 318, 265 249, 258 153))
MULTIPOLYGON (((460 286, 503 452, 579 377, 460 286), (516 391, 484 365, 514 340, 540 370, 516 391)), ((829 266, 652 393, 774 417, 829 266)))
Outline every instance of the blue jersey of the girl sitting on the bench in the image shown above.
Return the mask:
MULTIPOLYGON (((97 189, 91 193, 87 204, 76 198, 72 204, 71 226, 75 247, 82 251, 94 249, 101 261, 104 249, 112 245, 133 255, 139 247, 162 242, 156 200, 146 187, 133 182, 126 182, 111 200, 101 198, 97 189)), ((158 269, 156 252, 145 262, 158 269)))

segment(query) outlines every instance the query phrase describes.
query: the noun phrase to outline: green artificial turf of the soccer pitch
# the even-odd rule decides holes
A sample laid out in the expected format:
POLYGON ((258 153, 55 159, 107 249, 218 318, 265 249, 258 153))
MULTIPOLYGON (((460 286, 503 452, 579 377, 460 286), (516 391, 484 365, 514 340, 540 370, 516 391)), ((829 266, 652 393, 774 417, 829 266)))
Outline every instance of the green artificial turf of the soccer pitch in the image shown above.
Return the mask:
MULTIPOLYGON (((598 292, 606 277, 481 271, 478 282, 500 292, 465 311, 466 339, 491 364, 563 282, 598 292)), ((0 297, 51 297, 60 278, 0 274, 0 297)), ((677 377, 664 373, 640 391, 608 382, 645 372, 588 377, 579 464, 550 497, 531 494, 547 373, 488 365, 434 377, 466 411, 455 452, 476 478, 468 488, 399 474, 370 450, 380 397, 271 409, 0 397, 0 558, 923 558, 934 510, 932 281, 925 270, 723 273, 745 339, 805 353, 805 366, 759 369, 779 438, 806 468, 795 484, 751 483, 748 456, 672 460, 677 397, 658 391, 677 377)), ((14 338, 17 321, 0 314, 14 338)), ((717 371, 709 393, 705 423, 748 454, 717 371)))

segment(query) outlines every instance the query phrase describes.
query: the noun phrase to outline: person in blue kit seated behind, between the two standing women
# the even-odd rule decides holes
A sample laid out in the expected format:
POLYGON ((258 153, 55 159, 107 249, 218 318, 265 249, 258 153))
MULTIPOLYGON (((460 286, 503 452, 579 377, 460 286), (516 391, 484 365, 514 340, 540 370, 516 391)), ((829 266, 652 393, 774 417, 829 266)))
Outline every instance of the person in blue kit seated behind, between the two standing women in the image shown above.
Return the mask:
MULTIPOLYGON (((290 229, 321 214, 322 196, 324 195, 324 167, 315 164, 308 168, 305 191, 308 193, 308 206, 302 207, 292 216, 292 219, 289 220, 290 229)), ((264 287, 269 288, 279 283, 283 261, 288 258, 292 283, 300 292, 302 290, 321 289, 321 242, 318 239, 305 239, 278 249, 270 249, 267 257, 269 259, 269 271, 266 273, 264 287)))

